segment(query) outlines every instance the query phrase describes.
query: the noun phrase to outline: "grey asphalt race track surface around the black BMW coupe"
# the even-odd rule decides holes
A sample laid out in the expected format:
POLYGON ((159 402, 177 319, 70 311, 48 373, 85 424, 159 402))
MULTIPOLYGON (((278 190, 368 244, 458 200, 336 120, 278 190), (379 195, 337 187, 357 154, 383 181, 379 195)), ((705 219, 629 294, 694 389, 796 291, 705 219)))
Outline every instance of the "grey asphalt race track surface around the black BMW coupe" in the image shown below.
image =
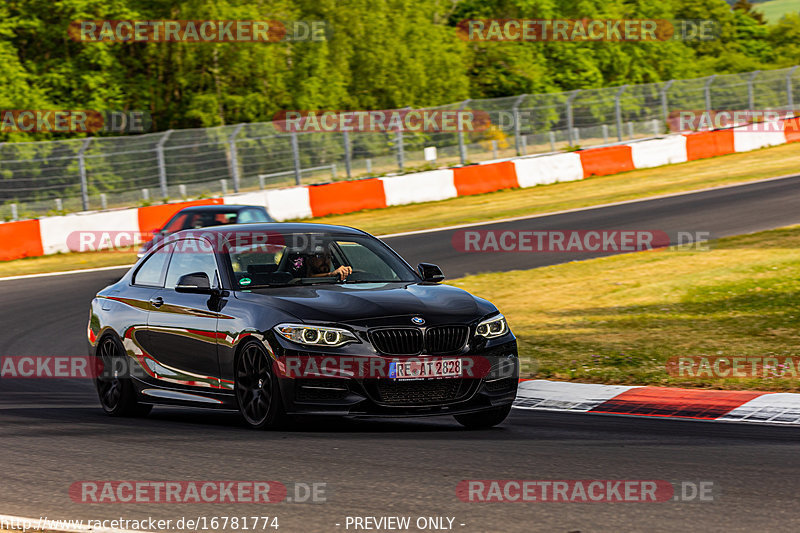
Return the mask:
MULTIPOLYGON (((798 224, 799 207, 800 177, 793 177, 474 229, 656 229, 721 237, 798 224)), ((450 277, 577 258, 458 253, 450 244, 453 231, 388 242, 412 264, 437 263, 450 277)), ((0 355, 85 353, 88 302, 121 273, 0 282, 0 355)), ((0 514, 270 515, 278 517, 279 531, 354 531, 345 528, 347 516, 411 516, 412 523, 448 516, 463 532, 797 531, 799 442, 794 428, 520 410, 485 431, 442 418, 304 419, 287 430, 256 432, 235 414, 191 409, 111 419, 88 382, 6 379, 0 381, 0 514), (455 492, 464 479, 710 481, 715 496, 710 502, 466 503, 455 492), (68 488, 80 480, 327 485, 326 501, 316 504, 77 504, 68 488)))

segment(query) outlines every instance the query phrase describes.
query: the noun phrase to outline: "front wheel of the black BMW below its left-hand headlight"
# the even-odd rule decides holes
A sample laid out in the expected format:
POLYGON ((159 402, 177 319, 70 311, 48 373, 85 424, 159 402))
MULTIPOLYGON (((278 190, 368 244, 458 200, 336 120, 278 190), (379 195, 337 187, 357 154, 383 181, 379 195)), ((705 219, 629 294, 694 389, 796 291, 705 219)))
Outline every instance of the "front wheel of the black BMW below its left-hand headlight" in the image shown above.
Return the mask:
POLYGON ((245 424, 253 429, 275 429, 286 422, 272 359, 259 342, 250 341, 242 347, 235 376, 236 403, 245 424))

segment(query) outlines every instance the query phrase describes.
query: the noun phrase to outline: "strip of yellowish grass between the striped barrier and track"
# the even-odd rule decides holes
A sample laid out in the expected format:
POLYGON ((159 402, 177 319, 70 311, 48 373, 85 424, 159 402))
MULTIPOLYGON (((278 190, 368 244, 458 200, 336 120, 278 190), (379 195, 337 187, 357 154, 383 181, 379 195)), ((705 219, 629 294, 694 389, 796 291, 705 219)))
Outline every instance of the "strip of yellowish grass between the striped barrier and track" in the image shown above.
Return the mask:
MULTIPOLYGON (((331 215, 314 222, 354 226, 376 235, 398 233, 741 183, 795 173, 798 164, 800 143, 793 143, 570 183, 331 215)), ((0 277, 129 265, 135 260, 135 254, 121 252, 57 254, 1 262, 0 277)))

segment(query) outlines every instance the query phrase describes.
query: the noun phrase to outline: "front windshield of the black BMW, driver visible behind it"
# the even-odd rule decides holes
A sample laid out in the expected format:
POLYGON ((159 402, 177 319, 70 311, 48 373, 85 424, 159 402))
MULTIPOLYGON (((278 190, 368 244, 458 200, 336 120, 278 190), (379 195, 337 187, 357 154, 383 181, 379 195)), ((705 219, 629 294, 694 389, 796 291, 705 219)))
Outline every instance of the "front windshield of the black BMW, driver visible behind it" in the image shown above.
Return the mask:
POLYGON ((228 242, 225 256, 240 289, 416 280, 404 261, 368 235, 246 232, 228 242))

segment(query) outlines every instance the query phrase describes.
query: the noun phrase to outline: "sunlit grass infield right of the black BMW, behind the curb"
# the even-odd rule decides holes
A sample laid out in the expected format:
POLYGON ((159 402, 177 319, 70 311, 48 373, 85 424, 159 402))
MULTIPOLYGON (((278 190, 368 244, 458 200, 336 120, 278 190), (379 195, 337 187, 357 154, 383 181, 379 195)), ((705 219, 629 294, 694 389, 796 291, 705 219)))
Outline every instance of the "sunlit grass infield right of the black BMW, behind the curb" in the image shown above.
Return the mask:
POLYGON ((640 252, 451 283, 508 318, 529 377, 800 391, 800 379, 679 378, 665 369, 680 356, 800 356, 800 226, 722 239, 710 251, 640 252))

